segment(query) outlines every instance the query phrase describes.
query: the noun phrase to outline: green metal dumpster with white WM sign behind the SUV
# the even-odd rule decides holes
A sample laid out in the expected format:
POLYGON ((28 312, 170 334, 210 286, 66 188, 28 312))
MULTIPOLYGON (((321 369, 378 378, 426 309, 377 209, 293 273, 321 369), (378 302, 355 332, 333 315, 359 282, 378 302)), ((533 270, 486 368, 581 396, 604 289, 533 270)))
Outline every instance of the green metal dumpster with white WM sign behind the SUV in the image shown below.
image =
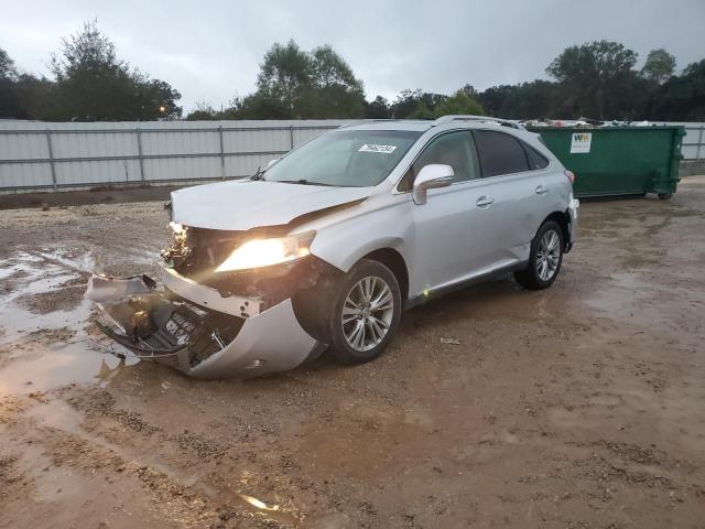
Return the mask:
POLYGON ((670 198, 679 182, 683 127, 536 127, 546 147, 575 173, 576 196, 670 198))

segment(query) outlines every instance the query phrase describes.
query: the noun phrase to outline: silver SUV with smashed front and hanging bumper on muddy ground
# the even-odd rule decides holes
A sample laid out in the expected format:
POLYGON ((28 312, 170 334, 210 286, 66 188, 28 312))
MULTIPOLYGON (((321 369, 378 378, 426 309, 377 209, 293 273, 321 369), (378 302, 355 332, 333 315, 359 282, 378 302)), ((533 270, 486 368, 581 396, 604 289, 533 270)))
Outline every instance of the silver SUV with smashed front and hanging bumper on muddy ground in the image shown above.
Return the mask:
POLYGON ((369 361, 402 312, 512 271, 556 279, 577 223, 573 174, 505 120, 367 121, 252 177, 172 194, 158 281, 95 276, 101 328, 203 378, 369 361))

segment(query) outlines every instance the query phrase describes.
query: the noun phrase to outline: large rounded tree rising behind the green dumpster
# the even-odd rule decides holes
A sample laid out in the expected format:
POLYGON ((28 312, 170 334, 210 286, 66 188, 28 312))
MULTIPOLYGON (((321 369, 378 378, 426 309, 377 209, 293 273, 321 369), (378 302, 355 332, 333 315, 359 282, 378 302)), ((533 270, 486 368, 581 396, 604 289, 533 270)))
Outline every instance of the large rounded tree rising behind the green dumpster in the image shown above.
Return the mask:
POLYGON ((567 47, 546 68, 561 85, 568 115, 617 117, 633 84, 637 54, 618 42, 595 41, 567 47))

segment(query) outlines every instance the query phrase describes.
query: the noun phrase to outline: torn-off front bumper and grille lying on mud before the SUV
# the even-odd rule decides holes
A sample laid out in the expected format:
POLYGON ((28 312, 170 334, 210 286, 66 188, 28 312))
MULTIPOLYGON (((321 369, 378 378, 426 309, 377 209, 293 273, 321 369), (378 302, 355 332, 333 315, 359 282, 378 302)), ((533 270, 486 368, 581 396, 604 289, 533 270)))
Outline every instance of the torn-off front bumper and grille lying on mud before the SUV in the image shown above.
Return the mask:
POLYGON ((293 369, 324 345, 307 334, 292 300, 273 306, 218 290, 161 267, 165 289, 147 276, 93 276, 86 298, 105 334, 142 359, 197 378, 248 378, 293 369))

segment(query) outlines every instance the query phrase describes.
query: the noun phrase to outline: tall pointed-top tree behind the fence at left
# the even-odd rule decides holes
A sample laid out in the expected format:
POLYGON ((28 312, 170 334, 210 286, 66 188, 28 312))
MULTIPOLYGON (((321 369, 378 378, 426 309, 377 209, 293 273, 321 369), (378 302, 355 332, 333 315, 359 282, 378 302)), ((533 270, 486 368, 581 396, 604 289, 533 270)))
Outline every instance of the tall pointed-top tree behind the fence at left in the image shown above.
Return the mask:
POLYGON ((62 40, 50 69, 62 119, 143 120, 181 116, 181 94, 169 83, 151 79, 117 57, 115 44, 87 22, 62 40))

